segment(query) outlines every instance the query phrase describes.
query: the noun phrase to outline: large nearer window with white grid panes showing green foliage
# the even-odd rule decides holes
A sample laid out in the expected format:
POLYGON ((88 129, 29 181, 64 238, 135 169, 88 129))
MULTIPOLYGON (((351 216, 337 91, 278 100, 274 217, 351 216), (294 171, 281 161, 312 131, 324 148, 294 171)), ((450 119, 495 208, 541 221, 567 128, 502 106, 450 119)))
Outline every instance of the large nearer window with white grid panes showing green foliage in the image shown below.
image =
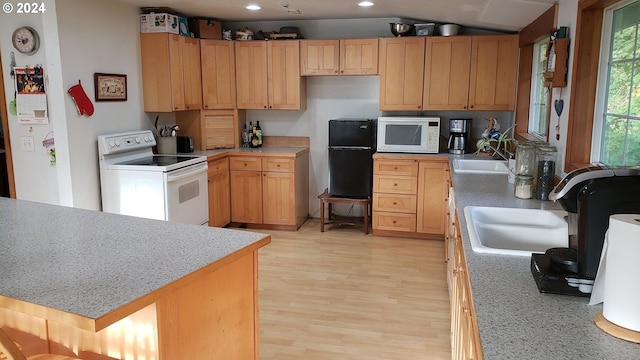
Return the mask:
POLYGON ((604 14, 591 157, 607 165, 640 165, 640 3, 604 14))

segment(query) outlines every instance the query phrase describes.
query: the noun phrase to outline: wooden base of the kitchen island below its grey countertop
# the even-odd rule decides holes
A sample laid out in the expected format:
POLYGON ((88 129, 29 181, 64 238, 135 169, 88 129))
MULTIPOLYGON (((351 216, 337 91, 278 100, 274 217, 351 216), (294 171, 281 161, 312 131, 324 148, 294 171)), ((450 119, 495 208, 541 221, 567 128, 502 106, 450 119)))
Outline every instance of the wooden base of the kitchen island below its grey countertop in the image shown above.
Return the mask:
POLYGON ((151 304, 97 331, 83 329, 78 315, 60 321, 59 310, 0 296, 0 327, 27 356, 51 352, 86 360, 258 359, 257 258, 256 249, 204 267, 152 292, 151 304))

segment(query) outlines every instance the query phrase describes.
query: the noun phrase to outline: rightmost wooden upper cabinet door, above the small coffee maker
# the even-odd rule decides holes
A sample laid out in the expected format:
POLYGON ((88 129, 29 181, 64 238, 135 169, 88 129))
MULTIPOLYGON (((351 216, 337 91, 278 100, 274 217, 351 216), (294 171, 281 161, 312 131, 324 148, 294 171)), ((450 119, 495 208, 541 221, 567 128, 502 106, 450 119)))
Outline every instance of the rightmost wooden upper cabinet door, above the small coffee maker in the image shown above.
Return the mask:
POLYGON ((470 110, 514 110, 518 35, 474 36, 470 110))

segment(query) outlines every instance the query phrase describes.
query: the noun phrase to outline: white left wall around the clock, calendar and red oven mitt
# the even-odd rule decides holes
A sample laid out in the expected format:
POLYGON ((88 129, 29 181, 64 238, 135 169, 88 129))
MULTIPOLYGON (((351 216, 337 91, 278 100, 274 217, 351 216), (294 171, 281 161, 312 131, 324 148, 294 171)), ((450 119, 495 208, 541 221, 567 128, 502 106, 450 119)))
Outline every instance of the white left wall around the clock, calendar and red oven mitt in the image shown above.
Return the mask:
MULTIPOLYGON (((26 126, 9 116, 16 197, 86 209, 100 209, 97 136, 116 131, 151 128, 142 111, 139 9, 118 1, 49 0, 42 15, 0 14, 0 52, 7 101, 13 99, 9 76, 10 36, 19 25, 40 32, 42 46, 31 56, 16 53, 18 65, 43 64, 48 74, 49 125, 26 126), (94 101, 95 72, 127 75, 126 102, 94 101), (67 90, 82 82, 95 113, 80 116, 67 90), (54 132, 57 163, 41 144, 54 132), (33 136, 35 152, 20 149, 20 137, 33 136)), ((8 104, 7 104, 8 106, 8 104)))

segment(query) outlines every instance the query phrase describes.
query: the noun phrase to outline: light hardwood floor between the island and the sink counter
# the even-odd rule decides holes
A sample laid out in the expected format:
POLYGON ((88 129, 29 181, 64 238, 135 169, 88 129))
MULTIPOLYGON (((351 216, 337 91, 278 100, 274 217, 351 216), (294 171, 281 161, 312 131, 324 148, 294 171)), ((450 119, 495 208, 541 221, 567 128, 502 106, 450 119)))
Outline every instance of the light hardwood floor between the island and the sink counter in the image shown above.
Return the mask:
POLYGON ((318 219, 266 232, 261 360, 451 359, 444 242, 321 233, 318 219))

